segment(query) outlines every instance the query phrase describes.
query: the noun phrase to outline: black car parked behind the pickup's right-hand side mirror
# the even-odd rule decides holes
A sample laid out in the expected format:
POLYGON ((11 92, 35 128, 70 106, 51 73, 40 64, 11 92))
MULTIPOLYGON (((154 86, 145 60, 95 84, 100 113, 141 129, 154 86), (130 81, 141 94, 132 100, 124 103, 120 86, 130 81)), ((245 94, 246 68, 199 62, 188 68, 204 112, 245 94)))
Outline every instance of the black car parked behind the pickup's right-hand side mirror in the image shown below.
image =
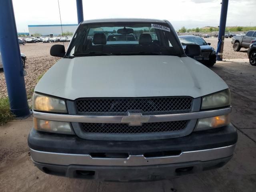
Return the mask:
POLYGON ((206 66, 214 66, 216 63, 216 51, 210 46, 210 43, 206 43, 203 38, 193 35, 181 35, 179 38, 184 50, 187 45, 198 44, 201 48, 201 55, 193 58, 206 66))

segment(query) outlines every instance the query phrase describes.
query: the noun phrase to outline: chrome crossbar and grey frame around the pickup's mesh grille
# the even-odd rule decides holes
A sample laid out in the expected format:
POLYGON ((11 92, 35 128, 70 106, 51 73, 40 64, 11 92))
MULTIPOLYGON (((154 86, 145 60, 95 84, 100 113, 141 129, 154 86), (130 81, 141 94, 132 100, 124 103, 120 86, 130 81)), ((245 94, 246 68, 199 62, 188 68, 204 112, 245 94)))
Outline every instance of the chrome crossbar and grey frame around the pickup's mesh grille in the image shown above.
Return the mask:
MULTIPOLYGON (((201 99, 193 99, 192 110, 188 113, 172 113, 172 114, 156 114, 150 115, 150 118, 144 121, 143 124, 147 123, 156 123, 156 122, 174 122, 174 121, 184 121, 188 120, 186 128, 180 131, 172 132, 150 132, 144 134, 107 134, 107 133, 89 133, 84 132, 80 123, 98 123, 98 124, 128 124, 127 122, 122 123, 125 116, 100 116, 100 115, 83 115, 76 113, 75 102, 67 100, 67 107, 69 114, 58 114, 58 113, 47 113, 47 112, 38 112, 33 110, 34 118, 60 121, 60 122, 71 122, 74 133, 83 139, 88 140, 122 140, 122 141, 132 141, 132 140, 157 140, 157 139, 168 139, 168 138, 177 138, 190 134, 196 122, 200 118, 208 118, 213 116, 220 116, 228 114, 231 112, 231 107, 215 109, 215 110, 206 110, 200 111, 201 99)), ((145 116, 143 116, 145 117, 145 116)), ((130 119, 132 120, 132 119, 130 119)), ((128 119, 128 122, 130 121, 128 119)), ((132 127, 132 126, 130 126, 132 127)), ((140 128, 141 126, 135 126, 140 128)))

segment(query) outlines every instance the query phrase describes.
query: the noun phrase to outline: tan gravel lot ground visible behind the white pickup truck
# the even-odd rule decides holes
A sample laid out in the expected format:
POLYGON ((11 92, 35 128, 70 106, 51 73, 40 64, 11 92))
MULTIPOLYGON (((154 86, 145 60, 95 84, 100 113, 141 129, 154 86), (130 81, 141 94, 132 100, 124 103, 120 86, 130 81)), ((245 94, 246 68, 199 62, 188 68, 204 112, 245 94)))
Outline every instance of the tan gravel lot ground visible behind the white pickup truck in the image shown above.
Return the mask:
MULTIPOLYGON (((217 38, 205 38, 206 42, 211 43, 211 46, 216 49, 217 38)), ((243 59, 247 57, 247 50, 242 48, 240 52, 234 52, 231 44, 232 38, 225 39, 224 43, 224 59, 243 59)), ((62 43, 32 43, 20 46, 20 51, 27 56, 25 77, 27 94, 31 94, 38 82, 38 76, 44 74, 59 58, 50 56, 50 48, 53 44, 62 43)), ((69 42, 65 42, 65 47, 68 47, 69 42)), ((7 96, 6 83, 3 70, 0 70, 0 97, 7 96)))

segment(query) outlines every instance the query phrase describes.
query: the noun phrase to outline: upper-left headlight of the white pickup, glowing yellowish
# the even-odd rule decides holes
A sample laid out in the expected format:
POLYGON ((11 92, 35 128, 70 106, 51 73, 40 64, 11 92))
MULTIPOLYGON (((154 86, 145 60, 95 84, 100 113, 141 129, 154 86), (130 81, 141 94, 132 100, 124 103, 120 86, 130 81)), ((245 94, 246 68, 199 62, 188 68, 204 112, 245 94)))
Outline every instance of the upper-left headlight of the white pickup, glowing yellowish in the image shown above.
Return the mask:
POLYGON ((34 93, 33 110, 67 113, 66 102, 63 99, 34 93))

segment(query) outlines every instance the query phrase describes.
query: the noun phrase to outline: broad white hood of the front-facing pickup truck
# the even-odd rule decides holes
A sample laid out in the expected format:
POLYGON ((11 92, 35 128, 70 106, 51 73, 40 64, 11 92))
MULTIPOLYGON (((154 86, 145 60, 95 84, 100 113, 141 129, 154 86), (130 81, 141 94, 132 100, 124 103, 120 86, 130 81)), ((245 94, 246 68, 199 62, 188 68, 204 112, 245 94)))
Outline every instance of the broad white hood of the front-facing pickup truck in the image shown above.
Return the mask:
POLYGON ((35 91, 75 100, 93 97, 191 96, 228 88, 212 70, 189 57, 86 56, 60 59, 35 91))

